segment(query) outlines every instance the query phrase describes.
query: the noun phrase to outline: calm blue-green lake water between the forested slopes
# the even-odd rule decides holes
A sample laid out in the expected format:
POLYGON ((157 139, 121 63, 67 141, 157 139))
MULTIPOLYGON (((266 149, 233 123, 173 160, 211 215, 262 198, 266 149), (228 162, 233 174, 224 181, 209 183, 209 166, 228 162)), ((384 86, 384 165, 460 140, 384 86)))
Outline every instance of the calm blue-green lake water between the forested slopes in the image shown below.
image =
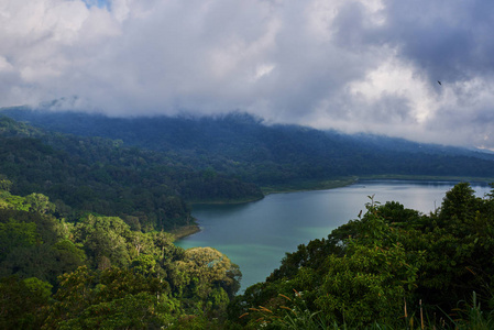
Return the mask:
MULTIPOLYGON (((396 200, 406 208, 428 213, 440 207, 454 183, 373 180, 329 190, 268 195, 235 206, 197 206, 193 216, 201 231, 177 245, 211 246, 227 254, 242 271, 242 290, 262 282, 279 266, 285 252, 298 244, 327 237, 331 230, 365 211, 367 196, 385 204, 396 200)), ((477 196, 491 187, 472 184, 477 196)))

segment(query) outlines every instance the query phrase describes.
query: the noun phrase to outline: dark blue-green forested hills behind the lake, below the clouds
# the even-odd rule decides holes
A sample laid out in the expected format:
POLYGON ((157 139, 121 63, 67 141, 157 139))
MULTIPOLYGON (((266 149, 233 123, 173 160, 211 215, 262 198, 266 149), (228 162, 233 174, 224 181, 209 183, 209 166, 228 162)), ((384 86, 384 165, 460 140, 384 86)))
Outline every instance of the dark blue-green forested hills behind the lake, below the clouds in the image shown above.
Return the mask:
POLYGON ((88 211, 119 216, 143 231, 190 226, 188 202, 254 200, 263 197, 261 187, 314 188, 375 175, 494 177, 490 154, 266 127, 242 113, 111 119, 2 112, 39 125, 0 118, 0 174, 13 183, 12 193, 45 194, 67 219, 88 211))

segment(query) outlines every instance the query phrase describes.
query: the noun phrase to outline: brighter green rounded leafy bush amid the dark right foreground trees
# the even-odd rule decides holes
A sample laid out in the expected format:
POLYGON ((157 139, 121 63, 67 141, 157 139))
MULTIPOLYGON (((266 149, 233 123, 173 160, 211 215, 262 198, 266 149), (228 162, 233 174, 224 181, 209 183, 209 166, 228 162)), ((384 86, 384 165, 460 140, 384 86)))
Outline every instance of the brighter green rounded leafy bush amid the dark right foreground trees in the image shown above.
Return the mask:
POLYGON ((331 321, 356 328, 376 319, 395 322, 406 296, 404 284, 415 283, 417 270, 406 266, 406 254, 399 245, 392 249, 355 245, 349 250, 344 257, 328 258, 329 272, 316 305, 331 321))

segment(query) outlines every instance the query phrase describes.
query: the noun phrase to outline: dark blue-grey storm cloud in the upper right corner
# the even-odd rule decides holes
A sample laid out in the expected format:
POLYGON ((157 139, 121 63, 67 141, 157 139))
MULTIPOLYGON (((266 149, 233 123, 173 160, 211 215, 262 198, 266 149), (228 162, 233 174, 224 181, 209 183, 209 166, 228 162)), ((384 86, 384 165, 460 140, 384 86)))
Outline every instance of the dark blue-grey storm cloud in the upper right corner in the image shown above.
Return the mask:
POLYGON ((487 1, 389 1, 382 41, 444 81, 492 75, 494 7, 487 1))

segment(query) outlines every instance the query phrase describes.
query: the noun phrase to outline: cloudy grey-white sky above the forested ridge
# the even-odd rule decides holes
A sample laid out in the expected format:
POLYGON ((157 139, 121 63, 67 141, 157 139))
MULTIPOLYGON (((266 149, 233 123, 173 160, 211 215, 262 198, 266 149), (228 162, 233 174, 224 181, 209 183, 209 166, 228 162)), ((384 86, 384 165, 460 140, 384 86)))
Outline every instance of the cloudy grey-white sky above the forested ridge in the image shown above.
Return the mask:
POLYGON ((485 0, 0 0, 0 107, 494 150, 493 31, 485 0))

